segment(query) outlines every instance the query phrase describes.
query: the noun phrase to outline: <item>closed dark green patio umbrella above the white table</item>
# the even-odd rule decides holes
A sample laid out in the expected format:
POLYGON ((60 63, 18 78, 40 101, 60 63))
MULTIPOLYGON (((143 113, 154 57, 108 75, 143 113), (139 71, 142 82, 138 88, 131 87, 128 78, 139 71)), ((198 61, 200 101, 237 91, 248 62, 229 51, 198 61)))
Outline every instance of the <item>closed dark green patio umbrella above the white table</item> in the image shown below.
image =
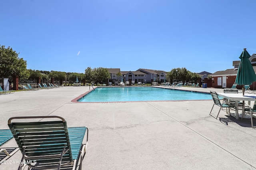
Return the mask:
POLYGON ((252 82, 256 81, 256 74, 252 67, 251 62, 249 61, 250 54, 244 49, 239 59, 241 59, 237 75, 236 75, 236 83, 242 85, 242 92, 244 95, 244 85, 250 85, 252 82))

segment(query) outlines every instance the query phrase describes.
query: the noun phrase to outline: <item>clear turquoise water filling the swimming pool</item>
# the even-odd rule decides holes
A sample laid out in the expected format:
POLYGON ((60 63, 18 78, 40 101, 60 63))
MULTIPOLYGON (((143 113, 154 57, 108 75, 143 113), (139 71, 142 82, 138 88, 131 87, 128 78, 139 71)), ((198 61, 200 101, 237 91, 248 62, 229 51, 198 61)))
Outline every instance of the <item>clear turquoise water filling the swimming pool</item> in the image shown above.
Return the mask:
POLYGON ((211 100, 210 94, 154 87, 98 87, 78 102, 211 100))

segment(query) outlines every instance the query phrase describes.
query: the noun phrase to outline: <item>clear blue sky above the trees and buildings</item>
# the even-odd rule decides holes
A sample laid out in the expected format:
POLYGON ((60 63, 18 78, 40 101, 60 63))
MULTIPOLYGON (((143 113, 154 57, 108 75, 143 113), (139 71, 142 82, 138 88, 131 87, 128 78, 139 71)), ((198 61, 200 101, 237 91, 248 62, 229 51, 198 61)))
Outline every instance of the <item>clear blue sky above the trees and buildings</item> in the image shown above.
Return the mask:
POLYGON ((256 53, 255 0, 2 0, 0 45, 33 70, 191 72, 256 53))

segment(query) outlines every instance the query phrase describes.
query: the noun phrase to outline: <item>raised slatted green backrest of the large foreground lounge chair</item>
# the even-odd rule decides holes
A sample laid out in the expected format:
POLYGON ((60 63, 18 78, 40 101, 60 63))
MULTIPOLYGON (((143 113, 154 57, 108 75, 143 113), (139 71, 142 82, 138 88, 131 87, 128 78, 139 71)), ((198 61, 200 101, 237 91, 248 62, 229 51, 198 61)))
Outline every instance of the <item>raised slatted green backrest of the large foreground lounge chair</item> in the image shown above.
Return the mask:
POLYGON ((56 121, 36 121, 36 122, 12 122, 13 119, 37 118, 30 117, 12 117, 8 120, 8 126, 23 152, 25 149, 25 160, 34 160, 37 163, 58 162, 62 150, 66 146, 69 149, 63 155, 63 162, 72 162, 72 151, 70 147, 70 139, 65 119, 58 116, 43 116, 42 118, 57 118, 56 121), (40 156, 40 158, 38 157, 40 156))

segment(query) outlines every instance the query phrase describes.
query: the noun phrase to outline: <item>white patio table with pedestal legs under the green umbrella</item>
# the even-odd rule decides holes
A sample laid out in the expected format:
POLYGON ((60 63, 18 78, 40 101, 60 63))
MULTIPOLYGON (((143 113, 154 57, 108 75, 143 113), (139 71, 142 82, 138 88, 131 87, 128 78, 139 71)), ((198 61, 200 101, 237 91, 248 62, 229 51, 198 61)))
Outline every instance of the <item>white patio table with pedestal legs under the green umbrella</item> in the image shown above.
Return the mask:
MULTIPOLYGON (((250 106, 251 101, 254 101, 256 98, 256 94, 243 94, 242 93, 218 93, 219 96, 226 98, 228 100, 235 100, 236 101, 236 108, 238 108, 238 101, 248 101, 248 105, 250 106)), ((242 108, 242 114, 244 113, 244 106, 242 108)), ((232 114, 230 114, 232 115, 232 114)), ((233 115, 232 115, 233 116, 233 115)), ((239 119, 238 109, 236 109, 235 116, 236 119, 239 119)), ((244 119, 250 119, 250 115, 244 115, 244 119)))

